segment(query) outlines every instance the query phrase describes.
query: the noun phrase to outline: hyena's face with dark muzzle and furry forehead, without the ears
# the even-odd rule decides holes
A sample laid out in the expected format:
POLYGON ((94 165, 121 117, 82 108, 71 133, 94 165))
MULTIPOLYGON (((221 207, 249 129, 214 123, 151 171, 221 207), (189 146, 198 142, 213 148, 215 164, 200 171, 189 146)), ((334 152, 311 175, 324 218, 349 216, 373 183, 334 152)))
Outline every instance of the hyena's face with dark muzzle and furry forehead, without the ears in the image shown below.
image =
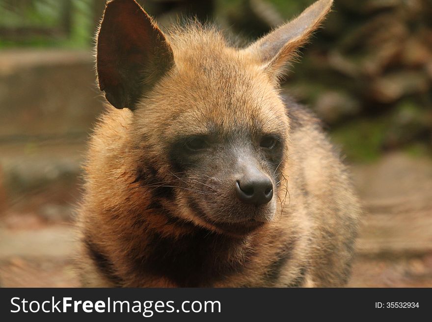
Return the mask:
POLYGON ((174 49, 181 67, 137 105, 139 158, 179 187, 173 199, 180 215, 246 233, 271 221, 284 198, 288 118, 267 75, 250 71, 239 55, 199 52, 207 61, 184 62, 174 49))

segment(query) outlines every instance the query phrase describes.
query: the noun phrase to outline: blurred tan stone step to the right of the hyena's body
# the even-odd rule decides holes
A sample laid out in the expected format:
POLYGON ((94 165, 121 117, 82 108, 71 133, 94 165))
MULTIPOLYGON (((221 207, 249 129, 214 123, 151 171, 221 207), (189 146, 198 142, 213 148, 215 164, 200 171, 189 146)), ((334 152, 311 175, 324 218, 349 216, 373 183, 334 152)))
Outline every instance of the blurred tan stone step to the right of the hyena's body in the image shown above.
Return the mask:
POLYGON ((352 170, 366 211, 358 252, 432 253, 432 160, 398 152, 352 170))

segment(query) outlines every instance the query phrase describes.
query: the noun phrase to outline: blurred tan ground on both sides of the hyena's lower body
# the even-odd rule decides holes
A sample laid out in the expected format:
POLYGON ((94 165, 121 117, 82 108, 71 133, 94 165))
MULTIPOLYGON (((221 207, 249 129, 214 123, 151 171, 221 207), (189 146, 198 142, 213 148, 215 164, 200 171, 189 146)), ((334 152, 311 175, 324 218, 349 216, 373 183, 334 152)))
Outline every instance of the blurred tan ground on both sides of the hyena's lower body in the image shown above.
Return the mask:
MULTIPOLYGON (((392 153, 351 169, 365 216, 349 286, 432 287, 432 160, 392 153)), ((79 285, 71 218, 79 194, 77 183, 61 182, 0 209, 1 286, 79 285), (46 202, 59 195, 69 201, 46 202)))

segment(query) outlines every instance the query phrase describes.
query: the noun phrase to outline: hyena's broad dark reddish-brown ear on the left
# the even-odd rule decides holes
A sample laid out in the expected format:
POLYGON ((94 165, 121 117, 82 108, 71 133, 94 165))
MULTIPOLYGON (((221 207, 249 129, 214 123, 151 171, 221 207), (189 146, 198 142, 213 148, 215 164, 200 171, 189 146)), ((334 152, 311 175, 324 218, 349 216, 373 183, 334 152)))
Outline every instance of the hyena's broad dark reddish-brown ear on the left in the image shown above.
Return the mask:
POLYGON ((135 109, 174 65, 165 36, 135 0, 108 1, 96 50, 99 88, 116 108, 135 109))

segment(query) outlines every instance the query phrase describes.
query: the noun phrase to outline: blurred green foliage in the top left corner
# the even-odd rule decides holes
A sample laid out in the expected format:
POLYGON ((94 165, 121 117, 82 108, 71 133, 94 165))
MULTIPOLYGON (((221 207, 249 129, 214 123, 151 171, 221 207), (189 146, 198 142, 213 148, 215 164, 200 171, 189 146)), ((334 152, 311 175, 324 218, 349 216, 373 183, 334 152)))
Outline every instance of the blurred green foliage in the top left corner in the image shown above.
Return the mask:
POLYGON ((90 47, 92 14, 91 0, 71 0, 70 7, 66 0, 0 0, 0 28, 5 33, 0 34, 0 48, 90 47), (20 29, 28 31, 7 36, 7 32, 20 29))

